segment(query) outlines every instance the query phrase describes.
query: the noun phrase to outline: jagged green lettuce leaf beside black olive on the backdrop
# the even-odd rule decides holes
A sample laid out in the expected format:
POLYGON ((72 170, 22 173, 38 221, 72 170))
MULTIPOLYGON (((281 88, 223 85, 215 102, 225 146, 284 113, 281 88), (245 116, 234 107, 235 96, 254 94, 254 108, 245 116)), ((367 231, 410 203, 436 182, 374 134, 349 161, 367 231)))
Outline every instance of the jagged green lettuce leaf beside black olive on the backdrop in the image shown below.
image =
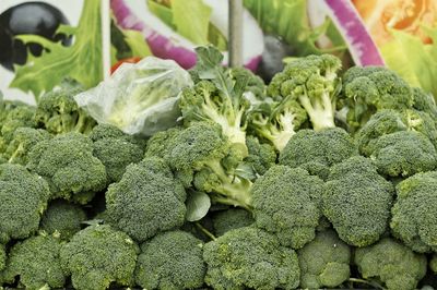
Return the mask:
POLYGON ((27 55, 24 65, 15 67, 10 87, 32 92, 38 98, 62 80, 70 77, 84 87, 93 87, 103 78, 101 0, 86 0, 78 27, 61 25, 58 34, 73 37, 73 45, 64 47, 37 35, 17 36, 25 44, 39 44, 45 49, 40 57, 27 55))

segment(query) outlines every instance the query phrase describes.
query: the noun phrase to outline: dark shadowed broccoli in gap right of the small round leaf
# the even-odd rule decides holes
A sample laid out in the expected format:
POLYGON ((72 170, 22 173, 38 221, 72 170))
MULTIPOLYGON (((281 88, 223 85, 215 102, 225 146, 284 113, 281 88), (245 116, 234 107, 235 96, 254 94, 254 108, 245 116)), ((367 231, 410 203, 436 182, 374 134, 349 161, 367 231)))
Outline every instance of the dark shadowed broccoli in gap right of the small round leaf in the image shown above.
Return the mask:
POLYGON ((255 222, 252 214, 243 208, 228 208, 214 213, 212 223, 214 233, 221 237, 229 230, 248 227, 255 222))

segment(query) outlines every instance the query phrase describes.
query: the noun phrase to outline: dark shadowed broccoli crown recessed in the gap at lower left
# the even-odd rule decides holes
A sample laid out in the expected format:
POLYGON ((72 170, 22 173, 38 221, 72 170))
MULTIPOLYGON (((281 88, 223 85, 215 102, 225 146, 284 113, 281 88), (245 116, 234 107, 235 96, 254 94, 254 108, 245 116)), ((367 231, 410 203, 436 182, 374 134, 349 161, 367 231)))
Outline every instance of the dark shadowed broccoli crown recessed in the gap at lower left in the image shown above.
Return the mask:
POLYGON ((44 213, 39 229, 49 234, 54 233, 61 240, 70 240, 81 230, 81 223, 85 220, 86 214, 80 206, 57 200, 52 201, 44 213))

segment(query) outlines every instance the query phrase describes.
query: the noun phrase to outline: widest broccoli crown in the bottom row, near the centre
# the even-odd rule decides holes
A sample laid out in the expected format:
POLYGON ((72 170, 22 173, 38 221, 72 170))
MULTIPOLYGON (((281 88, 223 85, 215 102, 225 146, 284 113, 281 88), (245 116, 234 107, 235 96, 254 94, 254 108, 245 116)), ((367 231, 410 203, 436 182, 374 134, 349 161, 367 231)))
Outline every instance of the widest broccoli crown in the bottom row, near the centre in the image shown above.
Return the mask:
POLYGON ((299 286, 297 254, 275 235, 246 227, 204 245, 205 282, 213 289, 295 289, 299 286))

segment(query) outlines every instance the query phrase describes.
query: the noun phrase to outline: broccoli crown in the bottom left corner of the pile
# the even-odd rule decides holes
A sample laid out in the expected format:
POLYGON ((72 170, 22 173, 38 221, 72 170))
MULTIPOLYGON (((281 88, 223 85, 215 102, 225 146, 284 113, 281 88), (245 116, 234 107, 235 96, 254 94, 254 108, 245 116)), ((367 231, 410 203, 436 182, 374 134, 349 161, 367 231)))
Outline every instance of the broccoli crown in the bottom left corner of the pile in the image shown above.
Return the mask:
POLYGON ((4 281, 13 283, 19 277, 19 288, 63 288, 67 275, 61 267, 60 249, 60 241, 51 235, 17 242, 9 253, 4 281))

